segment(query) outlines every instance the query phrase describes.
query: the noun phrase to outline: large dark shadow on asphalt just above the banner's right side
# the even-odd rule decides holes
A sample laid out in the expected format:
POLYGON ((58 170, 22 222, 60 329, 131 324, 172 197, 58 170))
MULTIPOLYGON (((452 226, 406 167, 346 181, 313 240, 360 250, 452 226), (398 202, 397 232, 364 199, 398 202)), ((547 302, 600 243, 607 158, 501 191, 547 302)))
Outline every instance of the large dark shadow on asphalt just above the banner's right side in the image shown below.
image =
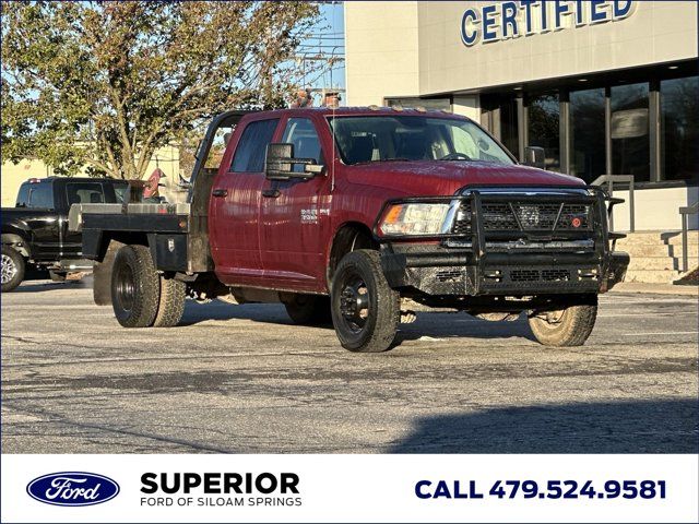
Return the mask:
POLYGON ((696 398, 507 407, 419 418, 389 453, 697 453, 696 398))

